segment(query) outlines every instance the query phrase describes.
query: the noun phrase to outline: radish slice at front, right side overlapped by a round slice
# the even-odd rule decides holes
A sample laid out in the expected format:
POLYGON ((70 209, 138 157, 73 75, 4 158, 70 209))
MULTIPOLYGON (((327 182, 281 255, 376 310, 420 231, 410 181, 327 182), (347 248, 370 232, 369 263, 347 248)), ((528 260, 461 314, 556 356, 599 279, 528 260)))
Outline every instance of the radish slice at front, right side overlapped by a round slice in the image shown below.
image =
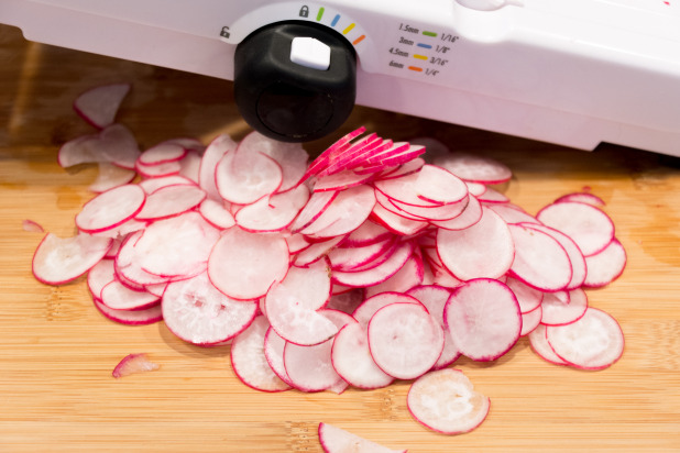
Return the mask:
POLYGON ((331 360, 338 375, 357 388, 382 388, 394 380, 373 361, 366 331, 357 321, 344 325, 334 336, 331 360))

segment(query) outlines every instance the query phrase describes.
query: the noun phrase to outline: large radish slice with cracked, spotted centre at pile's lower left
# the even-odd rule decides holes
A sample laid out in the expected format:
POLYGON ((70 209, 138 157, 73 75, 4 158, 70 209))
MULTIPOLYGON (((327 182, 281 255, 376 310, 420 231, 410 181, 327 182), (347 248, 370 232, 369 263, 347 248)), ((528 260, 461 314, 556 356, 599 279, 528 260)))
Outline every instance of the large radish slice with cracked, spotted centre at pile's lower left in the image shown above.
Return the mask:
POLYGON ((220 292, 204 273, 171 283, 163 294, 163 320, 179 339, 212 345, 233 339, 255 318, 257 305, 220 292))

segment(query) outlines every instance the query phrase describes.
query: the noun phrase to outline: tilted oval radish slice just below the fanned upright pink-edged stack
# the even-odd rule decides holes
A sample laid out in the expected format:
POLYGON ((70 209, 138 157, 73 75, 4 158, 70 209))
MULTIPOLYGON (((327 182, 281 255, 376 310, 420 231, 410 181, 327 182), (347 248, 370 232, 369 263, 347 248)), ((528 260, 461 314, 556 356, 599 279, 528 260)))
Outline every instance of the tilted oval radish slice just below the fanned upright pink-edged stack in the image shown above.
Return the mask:
POLYGON ((369 218, 375 195, 369 186, 342 190, 318 219, 301 230, 303 234, 333 237, 357 230, 369 218))

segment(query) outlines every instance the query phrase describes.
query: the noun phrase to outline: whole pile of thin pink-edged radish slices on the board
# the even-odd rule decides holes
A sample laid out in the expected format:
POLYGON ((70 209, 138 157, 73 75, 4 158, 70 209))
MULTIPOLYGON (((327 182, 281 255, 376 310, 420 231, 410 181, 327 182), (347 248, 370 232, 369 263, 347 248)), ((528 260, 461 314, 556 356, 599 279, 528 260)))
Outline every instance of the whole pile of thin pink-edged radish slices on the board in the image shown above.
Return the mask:
POLYGON ((264 391, 413 380, 414 418, 450 434, 490 407, 450 368, 461 355, 494 361, 524 335, 556 364, 601 369, 622 355, 617 322, 584 291, 626 263, 597 197, 531 216, 492 187, 511 179, 505 165, 363 129, 311 163, 255 132, 142 151, 114 122, 128 90, 76 100, 98 131, 58 162, 99 165, 98 195, 77 235, 47 233, 33 258, 45 284, 87 274, 107 318, 230 344, 234 373, 264 391))

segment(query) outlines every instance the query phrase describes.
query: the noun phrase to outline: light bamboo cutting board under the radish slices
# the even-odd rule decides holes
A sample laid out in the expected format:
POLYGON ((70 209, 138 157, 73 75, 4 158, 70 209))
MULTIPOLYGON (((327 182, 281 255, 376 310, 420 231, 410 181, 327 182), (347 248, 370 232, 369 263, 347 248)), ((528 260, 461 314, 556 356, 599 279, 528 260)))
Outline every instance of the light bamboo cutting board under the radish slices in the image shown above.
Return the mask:
POLYGON ((35 281, 31 257, 42 234, 24 231, 22 221, 69 235, 91 197, 94 169, 66 172, 55 161, 61 143, 92 132, 70 109, 79 92, 133 82, 119 118, 142 147, 220 132, 238 140, 249 129, 227 81, 30 44, 10 27, 0 27, 0 56, 1 452, 321 452, 320 421, 412 453, 680 452, 680 161, 615 146, 584 153, 355 110, 341 132, 364 124, 385 137, 434 136, 501 159, 515 172, 502 189, 529 212, 590 188, 606 201, 628 253, 617 281, 588 292, 621 322, 622 360, 601 372, 555 366, 526 339, 495 363, 461 358, 454 366, 492 408, 475 431, 447 437, 409 417, 408 383, 342 395, 259 393, 234 377, 228 346, 191 346, 162 322, 110 322, 81 279, 35 281), (138 352, 161 368, 113 379, 116 364, 138 352))

